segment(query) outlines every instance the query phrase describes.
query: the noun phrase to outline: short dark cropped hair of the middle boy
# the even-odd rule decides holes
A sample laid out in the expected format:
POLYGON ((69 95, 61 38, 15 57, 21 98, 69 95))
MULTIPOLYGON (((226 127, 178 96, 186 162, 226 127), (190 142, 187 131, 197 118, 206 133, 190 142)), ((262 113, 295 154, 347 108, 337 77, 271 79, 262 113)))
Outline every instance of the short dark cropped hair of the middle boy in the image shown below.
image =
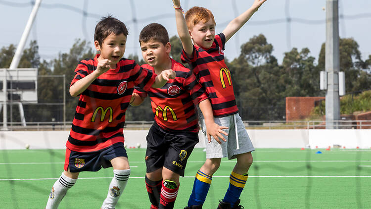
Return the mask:
POLYGON ((168 31, 161 24, 151 23, 140 31, 139 43, 146 43, 150 40, 159 41, 165 46, 170 42, 168 31))

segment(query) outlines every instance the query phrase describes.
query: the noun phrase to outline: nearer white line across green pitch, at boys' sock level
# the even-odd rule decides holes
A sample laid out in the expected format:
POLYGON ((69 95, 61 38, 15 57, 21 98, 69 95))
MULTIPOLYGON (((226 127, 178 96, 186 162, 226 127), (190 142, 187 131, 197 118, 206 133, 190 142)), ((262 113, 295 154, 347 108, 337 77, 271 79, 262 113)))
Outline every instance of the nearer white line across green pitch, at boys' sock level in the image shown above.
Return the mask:
MULTIPOLYGON (((229 178, 230 176, 213 176, 213 178, 229 178)), ((249 178, 360 178, 371 176, 249 176, 249 178)), ((144 177, 129 177, 131 179, 143 179, 144 177)), ((185 176, 181 178, 194 178, 194 176, 185 176)), ((0 181, 34 181, 34 180, 57 180, 58 178, 13 178, 0 179, 0 181)), ((112 177, 85 177, 79 179, 112 179, 112 177)))

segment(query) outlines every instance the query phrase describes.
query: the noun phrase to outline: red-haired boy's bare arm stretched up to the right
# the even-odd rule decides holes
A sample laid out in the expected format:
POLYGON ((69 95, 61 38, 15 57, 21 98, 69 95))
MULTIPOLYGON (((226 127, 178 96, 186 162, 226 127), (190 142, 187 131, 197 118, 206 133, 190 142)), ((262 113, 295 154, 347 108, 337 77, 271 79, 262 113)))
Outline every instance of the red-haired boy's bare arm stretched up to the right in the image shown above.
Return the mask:
POLYGON ((259 7, 266 0, 254 0, 252 6, 245 12, 234 18, 227 27, 223 30, 223 34, 226 36, 226 42, 250 19, 250 17, 258 11, 259 7))

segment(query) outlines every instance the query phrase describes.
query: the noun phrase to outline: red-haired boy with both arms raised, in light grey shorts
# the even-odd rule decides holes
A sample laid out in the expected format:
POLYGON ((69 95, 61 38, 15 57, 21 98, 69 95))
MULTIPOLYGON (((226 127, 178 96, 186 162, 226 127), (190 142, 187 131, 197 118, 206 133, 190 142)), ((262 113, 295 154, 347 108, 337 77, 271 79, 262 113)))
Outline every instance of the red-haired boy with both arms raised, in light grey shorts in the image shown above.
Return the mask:
MULTIPOLYGON (((231 73, 224 61, 226 42, 235 34, 266 0, 254 0, 252 6, 234 18, 222 33, 215 35, 215 20, 209 9, 194 6, 185 17, 180 0, 173 0, 178 34, 182 41, 182 61, 188 62, 211 101, 215 122, 229 126, 228 141, 206 144, 206 161, 196 174, 188 207, 200 209, 209 191, 212 175, 221 158, 237 158, 230 175, 229 188, 218 209, 240 209, 240 195, 248 178, 254 147, 238 114, 231 73)), ((202 114, 200 113, 202 118, 202 114)), ((203 119, 200 119, 203 126, 203 119)))

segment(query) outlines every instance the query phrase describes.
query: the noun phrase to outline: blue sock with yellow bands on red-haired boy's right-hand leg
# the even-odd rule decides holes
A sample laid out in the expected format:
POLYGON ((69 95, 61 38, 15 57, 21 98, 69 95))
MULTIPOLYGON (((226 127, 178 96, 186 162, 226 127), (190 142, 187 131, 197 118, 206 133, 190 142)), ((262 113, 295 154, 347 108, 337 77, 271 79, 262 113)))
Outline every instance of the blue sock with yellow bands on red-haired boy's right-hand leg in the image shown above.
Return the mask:
POLYGON ((241 196, 243 187, 245 187, 247 178, 249 174, 239 175, 232 171, 230 175, 230 186, 224 196, 223 202, 230 203, 231 208, 233 208, 233 204, 239 199, 241 196))

